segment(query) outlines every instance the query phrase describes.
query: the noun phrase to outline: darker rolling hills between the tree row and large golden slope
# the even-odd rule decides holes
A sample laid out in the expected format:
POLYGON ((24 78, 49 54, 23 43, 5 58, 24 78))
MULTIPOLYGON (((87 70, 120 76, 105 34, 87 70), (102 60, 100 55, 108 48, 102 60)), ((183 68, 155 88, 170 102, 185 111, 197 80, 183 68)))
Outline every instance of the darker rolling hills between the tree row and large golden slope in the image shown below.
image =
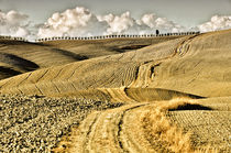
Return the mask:
POLYGON ((38 68, 139 50, 182 36, 51 41, 0 41, 0 79, 38 68))

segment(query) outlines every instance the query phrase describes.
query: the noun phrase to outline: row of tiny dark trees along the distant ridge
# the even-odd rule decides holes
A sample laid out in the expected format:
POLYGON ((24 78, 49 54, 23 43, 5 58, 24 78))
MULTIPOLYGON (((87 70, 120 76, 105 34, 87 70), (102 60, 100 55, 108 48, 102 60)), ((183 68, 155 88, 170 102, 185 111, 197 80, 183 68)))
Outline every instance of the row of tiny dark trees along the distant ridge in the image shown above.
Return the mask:
MULTIPOLYGON (((99 35, 99 36, 54 36, 54 37, 44 37, 37 39, 35 42, 46 42, 46 41, 57 41, 57 40, 105 40, 105 39, 122 39, 122 37, 157 37, 157 36, 177 36, 177 35, 191 35, 199 34, 200 32, 180 32, 180 33, 160 33, 156 30, 155 34, 111 34, 111 35, 99 35)), ((25 41, 23 37, 13 37, 13 36, 0 36, 0 40, 14 40, 14 41, 25 41)))

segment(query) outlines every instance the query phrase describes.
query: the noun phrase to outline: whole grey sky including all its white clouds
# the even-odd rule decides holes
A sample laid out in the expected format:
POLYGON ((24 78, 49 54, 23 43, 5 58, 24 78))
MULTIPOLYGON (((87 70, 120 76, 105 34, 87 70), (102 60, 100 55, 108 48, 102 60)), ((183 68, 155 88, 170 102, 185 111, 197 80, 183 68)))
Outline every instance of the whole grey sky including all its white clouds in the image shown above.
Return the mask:
POLYGON ((15 36, 148 33, 157 28, 172 32, 191 28, 212 31, 231 26, 231 0, 0 0, 0 34, 15 36))

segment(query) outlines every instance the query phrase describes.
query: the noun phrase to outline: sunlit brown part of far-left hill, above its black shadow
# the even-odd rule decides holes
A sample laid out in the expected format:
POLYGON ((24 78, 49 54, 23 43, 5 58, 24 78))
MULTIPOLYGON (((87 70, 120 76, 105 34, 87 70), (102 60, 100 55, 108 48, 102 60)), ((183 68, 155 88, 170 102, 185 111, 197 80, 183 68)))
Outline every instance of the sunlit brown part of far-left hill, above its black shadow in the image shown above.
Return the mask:
MULTIPOLYGON (((55 47, 29 42, 0 41, 0 53, 1 55, 8 54, 9 56, 16 56, 33 62, 41 68, 78 61, 74 56, 75 54, 68 55, 67 51, 58 51, 55 47)), ((15 57, 10 57, 10 59, 16 61, 15 57)))

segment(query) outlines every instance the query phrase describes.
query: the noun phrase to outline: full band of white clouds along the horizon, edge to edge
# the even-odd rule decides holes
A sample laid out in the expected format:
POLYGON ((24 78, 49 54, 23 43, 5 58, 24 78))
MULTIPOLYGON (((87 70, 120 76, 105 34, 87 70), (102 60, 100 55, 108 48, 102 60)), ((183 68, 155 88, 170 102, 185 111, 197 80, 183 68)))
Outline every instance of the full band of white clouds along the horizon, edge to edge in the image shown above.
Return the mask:
POLYGON ((210 21, 187 29, 166 18, 147 13, 134 19, 131 13, 98 15, 90 10, 77 7, 56 12, 45 23, 33 25, 29 15, 0 11, 0 35, 40 39, 51 36, 94 36, 106 34, 150 34, 160 30, 166 32, 200 31, 209 32, 231 29, 231 15, 215 15, 210 21))

